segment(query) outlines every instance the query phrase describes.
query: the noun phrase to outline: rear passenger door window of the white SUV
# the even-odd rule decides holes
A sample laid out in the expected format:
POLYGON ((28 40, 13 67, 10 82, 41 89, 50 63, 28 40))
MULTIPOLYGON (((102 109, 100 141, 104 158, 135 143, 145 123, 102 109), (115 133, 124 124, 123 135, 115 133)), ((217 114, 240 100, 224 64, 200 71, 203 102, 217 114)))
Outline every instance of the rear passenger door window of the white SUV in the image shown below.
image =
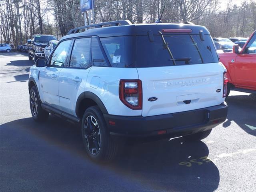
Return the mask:
POLYGON ((75 40, 69 66, 86 69, 91 66, 90 38, 81 38, 75 40))

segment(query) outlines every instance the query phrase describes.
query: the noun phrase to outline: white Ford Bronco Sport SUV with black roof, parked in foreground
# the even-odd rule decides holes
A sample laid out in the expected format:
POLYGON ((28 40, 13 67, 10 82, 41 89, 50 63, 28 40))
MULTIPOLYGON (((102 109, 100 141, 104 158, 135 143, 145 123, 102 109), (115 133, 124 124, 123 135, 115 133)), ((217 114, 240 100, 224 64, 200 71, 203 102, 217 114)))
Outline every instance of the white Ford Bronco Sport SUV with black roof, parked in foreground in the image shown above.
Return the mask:
POLYGON ((205 27, 127 20, 71 30, 28 82, 34 120, 79 122, 94 160, 114 158, 116 136, 206 138, 226 119, 226 84, 205 27))

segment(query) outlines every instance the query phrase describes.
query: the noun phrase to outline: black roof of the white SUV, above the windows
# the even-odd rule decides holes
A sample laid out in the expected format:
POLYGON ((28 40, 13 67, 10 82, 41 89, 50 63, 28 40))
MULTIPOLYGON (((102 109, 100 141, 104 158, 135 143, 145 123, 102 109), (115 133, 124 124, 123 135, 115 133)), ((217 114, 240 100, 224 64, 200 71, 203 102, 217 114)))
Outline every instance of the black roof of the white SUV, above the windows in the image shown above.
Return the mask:
MULTIPOLYGON (((86 27, 81 27, 81 28, 86 28, 86 27)), ((72 33, 76 29, 70 30, 70 32, 72 33)), ((126 24, 121 26, 90 28, 84 32, 68 34, 62 37, 61 40, 64 40, 67 38, 81 37, 81 36, 112 37, 112 36, 127 36, 127 35, 147 35, 148 31, 152 31, 154 35, 159 35, 159 31, 161 32, 162 29, 191 29, 192 30, 192 32, 190 33, 182 32, 182 34, 199 34, 200 30, 202 30, 204 34, 208 34, 208 35, 210 34, 209 31, 204 26, 193 25, 193 24, 184 24, 184 23, 126 24)), ((165 32, 164 34, 181 34, 181 33, 165 32)))

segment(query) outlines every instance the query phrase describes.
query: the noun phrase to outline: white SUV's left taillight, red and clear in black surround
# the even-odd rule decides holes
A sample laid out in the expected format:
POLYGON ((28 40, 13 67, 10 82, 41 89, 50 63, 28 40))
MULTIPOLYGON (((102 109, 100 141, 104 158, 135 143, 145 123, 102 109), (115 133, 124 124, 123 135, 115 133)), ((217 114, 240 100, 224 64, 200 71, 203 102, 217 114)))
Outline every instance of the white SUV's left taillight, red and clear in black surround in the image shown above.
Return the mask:
POLYGON ((142 82, 141 80, 120 80, 119 98, 133 110, 142 109, 142 82))

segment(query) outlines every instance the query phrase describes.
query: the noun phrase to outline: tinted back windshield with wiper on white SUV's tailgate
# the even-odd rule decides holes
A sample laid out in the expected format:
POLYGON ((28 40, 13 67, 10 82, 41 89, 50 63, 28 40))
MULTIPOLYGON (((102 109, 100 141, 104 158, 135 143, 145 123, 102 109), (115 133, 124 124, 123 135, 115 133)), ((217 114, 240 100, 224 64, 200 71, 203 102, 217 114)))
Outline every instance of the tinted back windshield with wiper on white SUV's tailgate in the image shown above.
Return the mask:
POLYGON ((136 67, 158 67, 219 62, 210 35, 136 36, 136 67), (168 48, 170 52, 168 51, 168 48))

